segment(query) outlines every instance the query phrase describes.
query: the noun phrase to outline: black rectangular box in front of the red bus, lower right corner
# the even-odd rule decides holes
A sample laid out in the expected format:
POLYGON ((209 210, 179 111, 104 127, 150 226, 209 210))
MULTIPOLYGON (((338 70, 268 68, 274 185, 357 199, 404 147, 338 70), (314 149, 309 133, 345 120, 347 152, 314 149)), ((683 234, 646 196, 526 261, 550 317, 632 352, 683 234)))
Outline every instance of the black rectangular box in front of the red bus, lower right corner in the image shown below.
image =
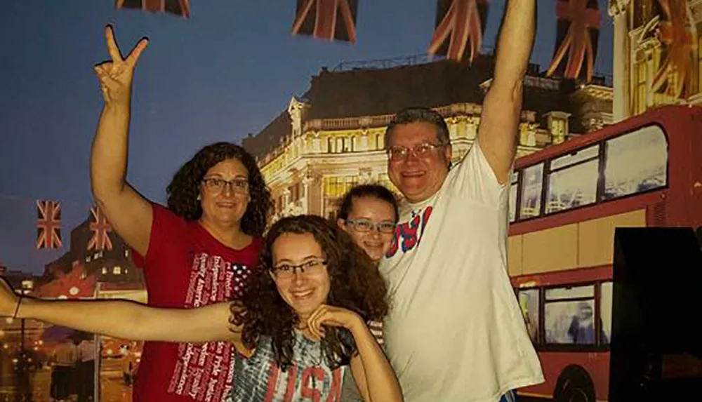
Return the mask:
POLYGON ((702 251, 692 228, 617 228, 609 401, 698 398, 702 251))

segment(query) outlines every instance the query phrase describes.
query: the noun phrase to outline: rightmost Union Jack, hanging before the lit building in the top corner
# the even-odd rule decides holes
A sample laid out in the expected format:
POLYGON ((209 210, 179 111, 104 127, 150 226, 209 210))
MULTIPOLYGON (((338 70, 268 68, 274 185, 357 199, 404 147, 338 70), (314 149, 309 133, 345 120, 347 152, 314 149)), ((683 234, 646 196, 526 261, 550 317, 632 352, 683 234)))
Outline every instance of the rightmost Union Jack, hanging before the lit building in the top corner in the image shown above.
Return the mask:
POLYGON ((695 62, 692 51, 697 47, 695 26, 687 0, 658 0, 663 20, 658 25, 658 37, 665 45, 661 64, 651 91, 665 85, 665 93, 673 98, 687 98, 692 89, 695 62))

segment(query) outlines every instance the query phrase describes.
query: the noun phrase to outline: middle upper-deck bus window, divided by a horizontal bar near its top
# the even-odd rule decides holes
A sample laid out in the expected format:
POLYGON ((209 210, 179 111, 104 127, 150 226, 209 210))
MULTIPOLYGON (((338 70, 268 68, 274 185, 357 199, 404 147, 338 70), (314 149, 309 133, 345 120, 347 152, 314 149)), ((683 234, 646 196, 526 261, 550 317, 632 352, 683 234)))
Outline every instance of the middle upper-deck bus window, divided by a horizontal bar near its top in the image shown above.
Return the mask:
POLYGON ((595 203, 599 145, 553 159, 548 174, 546 213, 595 203))

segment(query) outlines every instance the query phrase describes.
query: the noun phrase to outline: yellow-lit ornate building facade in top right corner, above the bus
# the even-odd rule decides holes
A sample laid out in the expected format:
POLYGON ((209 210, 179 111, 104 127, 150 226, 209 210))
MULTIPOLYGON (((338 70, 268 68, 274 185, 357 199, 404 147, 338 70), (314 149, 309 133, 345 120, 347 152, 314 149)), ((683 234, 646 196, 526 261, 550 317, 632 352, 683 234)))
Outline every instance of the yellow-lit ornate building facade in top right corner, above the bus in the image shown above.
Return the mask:
POLYGON ((702 0, 609 0, 614 121, 660 105, 702 105, 702 0))

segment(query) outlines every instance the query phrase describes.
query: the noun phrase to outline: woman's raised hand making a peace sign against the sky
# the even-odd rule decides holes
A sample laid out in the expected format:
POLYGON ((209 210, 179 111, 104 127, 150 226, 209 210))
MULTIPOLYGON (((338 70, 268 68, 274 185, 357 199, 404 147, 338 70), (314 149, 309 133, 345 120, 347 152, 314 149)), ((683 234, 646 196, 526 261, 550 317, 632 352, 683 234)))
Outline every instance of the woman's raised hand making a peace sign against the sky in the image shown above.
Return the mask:
POLYGON ((113 102, 129 102, 131 93, 131 83, 139 56, 149 43, 148 39, 141 39, 132 49, 126 58, 123 58, 117 41, 114 40, 112 27, 105 27, 105 37, 107 38, 107 51, 110 52, 110 59, 95 66, 95 73, 100 80, 102 95, 105 97, 105 104, 113 102))

